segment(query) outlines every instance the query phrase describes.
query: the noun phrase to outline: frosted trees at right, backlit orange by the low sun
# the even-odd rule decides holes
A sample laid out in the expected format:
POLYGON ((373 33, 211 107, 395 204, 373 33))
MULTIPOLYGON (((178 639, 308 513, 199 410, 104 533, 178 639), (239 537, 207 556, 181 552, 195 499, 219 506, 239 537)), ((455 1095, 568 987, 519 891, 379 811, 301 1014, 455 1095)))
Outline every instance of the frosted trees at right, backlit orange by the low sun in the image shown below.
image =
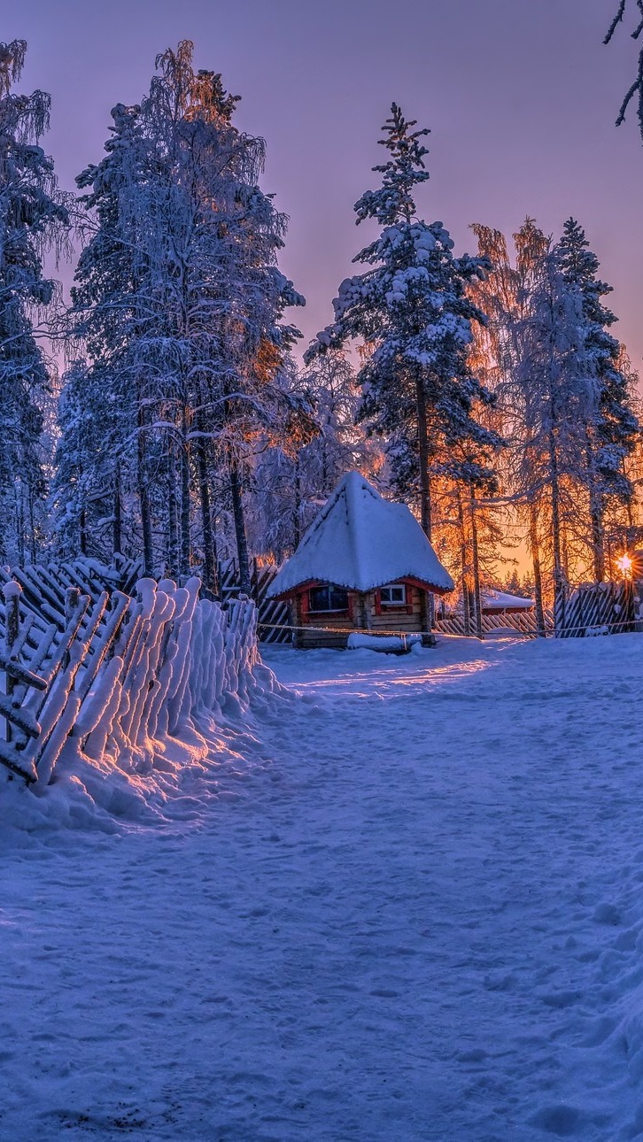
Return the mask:
POLYGON ((609 287, 577 223, 554 244, 527 219, 513 263, 499 232, 474 231, 492 263, 475 283, 488 322, 475 330, 474 368, 497 396, 493 424, 508 443, 501 488, 512 533, 520 539, 527 524, 541 626, 549 574, 558 600, 570 576, 604 576, 605 517, 612 526, 632 496, 632 380, 601 300, 609 287))

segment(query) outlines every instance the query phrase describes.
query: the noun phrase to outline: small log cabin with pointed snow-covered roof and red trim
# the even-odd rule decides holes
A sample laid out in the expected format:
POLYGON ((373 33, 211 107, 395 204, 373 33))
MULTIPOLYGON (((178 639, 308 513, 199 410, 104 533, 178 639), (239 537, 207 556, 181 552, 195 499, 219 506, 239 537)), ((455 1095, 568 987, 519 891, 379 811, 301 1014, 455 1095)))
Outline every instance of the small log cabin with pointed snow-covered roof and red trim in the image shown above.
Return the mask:
POLYGON ((290 601, 298 646, 341 648, 352 630, 428 633, 427 594, 452 589, 409 508, 385 500, 359 472, 349 472, 276 573, 268 596, 290 601))

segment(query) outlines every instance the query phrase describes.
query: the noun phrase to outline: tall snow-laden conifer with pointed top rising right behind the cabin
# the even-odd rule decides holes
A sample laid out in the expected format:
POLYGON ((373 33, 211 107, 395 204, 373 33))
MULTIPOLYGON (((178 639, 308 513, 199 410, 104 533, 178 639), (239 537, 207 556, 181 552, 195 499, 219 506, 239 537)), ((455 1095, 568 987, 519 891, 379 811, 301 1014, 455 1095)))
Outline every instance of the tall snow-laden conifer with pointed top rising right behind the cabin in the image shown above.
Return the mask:
POLYGON ((354 208, 357 223, 372 219, 381 233, 353 259, 369 268, 341 283, 335 322, 318 335, 306 360, 363 339, 359 418, 385 437, 394 485, 419 505, 431 537, 432 477, 484 478, 499 440, 475 419, 475 405, 491 396, 467 360, 472 322, 484 321, 467 283, 488 266, 468 255, 453 257, 442 223, 417 217, 413 193, 428 178, 421 143, 428 131, 415 126, 392 105, 380 139, 388 155, 373 168, 381 186, 354 208), (464 455, 467 449, 475 459, 464 455))

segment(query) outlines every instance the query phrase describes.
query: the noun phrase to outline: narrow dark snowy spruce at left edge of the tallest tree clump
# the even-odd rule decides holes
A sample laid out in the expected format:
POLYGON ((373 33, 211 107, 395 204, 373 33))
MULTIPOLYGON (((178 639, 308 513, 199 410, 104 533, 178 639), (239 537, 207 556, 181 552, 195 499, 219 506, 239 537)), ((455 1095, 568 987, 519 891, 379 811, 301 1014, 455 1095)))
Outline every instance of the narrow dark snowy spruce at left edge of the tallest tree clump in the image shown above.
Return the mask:
POLYGON ((137 557, 143 549, 151 573, 151 448, 142 428, 150 394, 134 361, 150 314, 139 295, 140 235, 127 188, 148 183, 154 170, 139 108, 118 104, 112 119, 105 156, 77 179, 86 192, 80 201, 87 241, 71 290, 70 353, 83 359, 65 377, 59 400, 54 520, 63 550, 75 533, 91 554, 105 558, 122 550, 124 524, 124 554, 137 557))

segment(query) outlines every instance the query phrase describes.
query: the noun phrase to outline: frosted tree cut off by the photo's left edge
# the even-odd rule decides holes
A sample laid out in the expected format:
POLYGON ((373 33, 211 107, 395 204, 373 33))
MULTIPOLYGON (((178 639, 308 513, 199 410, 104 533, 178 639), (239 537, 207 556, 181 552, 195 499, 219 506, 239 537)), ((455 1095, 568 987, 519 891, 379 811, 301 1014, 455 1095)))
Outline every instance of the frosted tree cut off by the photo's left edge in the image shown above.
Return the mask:
POLYGON ((34 560, 46 496, 40 439, 48 369, 34 319, 51 303, 42 254, 69 226, 54 166, 40 146, 49 96, 18 95, 24 40, 0 43, 0 562, 34 560))

